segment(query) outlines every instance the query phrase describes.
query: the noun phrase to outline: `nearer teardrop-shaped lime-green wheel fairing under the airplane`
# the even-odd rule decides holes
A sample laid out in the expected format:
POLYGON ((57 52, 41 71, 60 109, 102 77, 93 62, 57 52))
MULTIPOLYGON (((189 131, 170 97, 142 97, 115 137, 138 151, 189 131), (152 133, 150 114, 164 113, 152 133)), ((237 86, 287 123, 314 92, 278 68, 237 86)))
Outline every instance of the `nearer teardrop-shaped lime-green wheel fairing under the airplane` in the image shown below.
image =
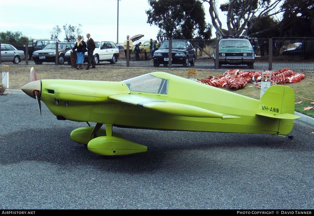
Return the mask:
POLYGON ((146 152, 147 147, 114 136, 101 136, 89 141, 87 148, 97 155, 129 155, 146 152))

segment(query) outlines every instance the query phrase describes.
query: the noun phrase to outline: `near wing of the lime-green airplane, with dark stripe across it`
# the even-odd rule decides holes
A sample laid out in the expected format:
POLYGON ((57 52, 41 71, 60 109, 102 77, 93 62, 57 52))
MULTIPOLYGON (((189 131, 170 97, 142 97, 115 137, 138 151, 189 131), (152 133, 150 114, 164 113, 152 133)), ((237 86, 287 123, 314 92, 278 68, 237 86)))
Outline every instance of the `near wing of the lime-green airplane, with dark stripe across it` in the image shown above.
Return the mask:
POLYGON ((237 116, 231 116, 222 113, 216 113, 207 109, 195 107, 192 105, 170 102, 151 97, 145 97, 141 95, 133 94, 116 94, 109 96, 110 99, 120 101, 123 103, 133 104, 135 106, 141 106, 144 108, 152 109, 161 113, 198 117, 198 118, 221 118, 221 119, 233 119, 240 118, 237 116))

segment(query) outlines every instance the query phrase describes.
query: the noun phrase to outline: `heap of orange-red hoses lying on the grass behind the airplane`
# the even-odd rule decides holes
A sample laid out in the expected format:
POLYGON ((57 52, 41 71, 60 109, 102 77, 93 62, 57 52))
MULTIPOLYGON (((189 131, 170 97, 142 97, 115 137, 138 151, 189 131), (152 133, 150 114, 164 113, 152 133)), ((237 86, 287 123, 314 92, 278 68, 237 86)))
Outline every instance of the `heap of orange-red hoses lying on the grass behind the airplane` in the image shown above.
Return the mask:
MULTIPOLYGON (((284 68, 274 71, 243 71, 238 69, 227 70, 223 75, 218 77, 208 76, 206 79, 198 80, 198 82, 207 84, 214 87, 225 87, 235 91, 237 89, 244 88, 247 83, 261 82, 262 74, 268 75, 271 85, 279 84, 284 85, 286 83, 296 83, 305 78, 304 74, 296 74, 292 70, 284 68)), ((265 76, 264 76, 265 77, 265 76)), ((265 79, 265 78, 264 78, 265 79)), ((263 80, 268 81, 268 80, 263 80)))

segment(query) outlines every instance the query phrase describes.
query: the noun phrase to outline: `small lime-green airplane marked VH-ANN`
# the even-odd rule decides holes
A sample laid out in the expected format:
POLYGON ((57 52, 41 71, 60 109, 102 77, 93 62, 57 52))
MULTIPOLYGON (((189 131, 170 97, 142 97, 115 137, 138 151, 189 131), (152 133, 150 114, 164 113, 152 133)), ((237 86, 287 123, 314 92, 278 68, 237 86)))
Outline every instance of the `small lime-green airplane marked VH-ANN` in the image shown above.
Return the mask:
POLYGON ((37 80, 31 68, 31 82, 22 90, 37 99, 40 113, 42 101, 59 120, 95 122, 70 136, 98 155, 147 151, 113 132, 113 126, 287 135, 300 118, 294 115, 295 95, 288 86, 270 86, 257 100, 165 72, 121 82, 37 80))

